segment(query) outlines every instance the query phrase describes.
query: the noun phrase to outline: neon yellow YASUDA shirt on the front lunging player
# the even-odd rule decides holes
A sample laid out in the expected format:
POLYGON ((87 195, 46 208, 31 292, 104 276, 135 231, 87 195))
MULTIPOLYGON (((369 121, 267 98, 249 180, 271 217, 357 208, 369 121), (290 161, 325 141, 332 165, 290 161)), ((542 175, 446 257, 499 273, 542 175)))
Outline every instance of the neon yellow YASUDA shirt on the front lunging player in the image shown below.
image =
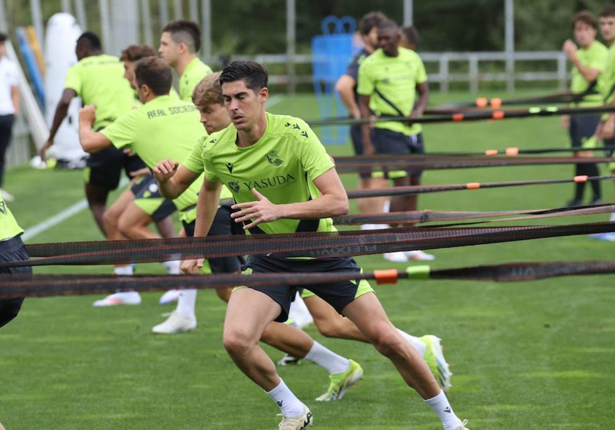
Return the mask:
MULTIPOLYGON (((320 195, 314 179, 333 168, 314 131, 303 120, 267 113, 267 128, 255 144, 239 147, 234 125, 212 133, 202 147, 208 181, 226 184, 237 203, 255 201, 258 190, 274 205, 308 201, 320 195)), ((331 218, 278 219, 249 233, 335 232, 331 218)))

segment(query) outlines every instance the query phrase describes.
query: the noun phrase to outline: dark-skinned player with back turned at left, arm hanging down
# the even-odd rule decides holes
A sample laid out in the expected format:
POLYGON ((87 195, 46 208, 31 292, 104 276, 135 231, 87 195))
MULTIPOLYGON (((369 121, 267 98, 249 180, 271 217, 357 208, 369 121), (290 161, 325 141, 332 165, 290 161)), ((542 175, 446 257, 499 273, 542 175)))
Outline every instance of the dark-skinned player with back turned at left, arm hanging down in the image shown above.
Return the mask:
MULTIPOLYGON (((62 97, 55 108, 54 122, 49 138, 41 148, 41 158, 54 144, 54 138, 65 119, 73 97, 80 96, 84 104, 96 106, 96 130, 101 130, 122 113, 134 106, 134 93, 124 79, 124 67, 119 58, 101 52, 100 39, 96 34, 86 32, 77 39, 75 48, 76 65, 66 73, 62 97)), ((136 155, 125 154, 114 147, 91 155, 87 160, 85 197, 98 225, 106 236, 103 214, 109 192, 119 185, 122 168, 127 175, 138 171, 145 164, 136 155)))

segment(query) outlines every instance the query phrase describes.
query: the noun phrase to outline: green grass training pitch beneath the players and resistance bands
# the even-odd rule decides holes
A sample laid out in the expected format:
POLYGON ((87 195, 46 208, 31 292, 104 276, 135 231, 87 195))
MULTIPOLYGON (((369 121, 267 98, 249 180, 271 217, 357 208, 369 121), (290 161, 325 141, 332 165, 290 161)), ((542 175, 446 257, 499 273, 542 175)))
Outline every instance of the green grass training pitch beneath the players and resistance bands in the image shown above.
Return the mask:
MULTIPOLYGON (((518 94, 522 95, 522 94, 518 94)), ((468 100, 457 93, 432 104, 468 100)), ((315 117, 311 95, 285 97, 271 109, 315 117)), ((518 146, 565 147, 557 118, 429 125, 428 151, 482 151, 518 146)), ((351 147, 330 146, 333 155, 351 147)), ((429 171, 424 182, 568 178, 573 167, 529 166, 429 171)), ((344 176, 347 188, 355 175, 344 176)), ((83 198, 79 171, 10 170, 10 208, 25 229, 83 198)), ((434 193, 421 209, 494 210, 561 206, 572 185, 434 193)), ((613 189, 603 184, 611 201, 613 189)), ((586 190, 586 200, 589 189, 586 190)), ((353 208, 354 210, 354 208, 353 208)), ((557 218, 541 224, 605 221, 606 216, 557 218)), ((34 242, 100 240, 84 210, 34 242)), ((613 243, 571 236, 434 251, 433 266, 463 267, 513 261, 612 259, 613 243)), ((365 270, 392 268, 381 256, 359 257, 365 270)), ((403 268, 403 265, 397 265, 403 268)), ((138 273, 162 273, 157 264, 138 273)), ((111 267, 47 267, 36 273, 110 273, 111 267)), ((611 429, 615 422, 613 276, 555 278, 523 283, 412 281, 379 286, 392 321, 412 334, 433 333, 445 343, 454 372, 449 398, 475 429, 611 429)), ((275 404, 248 381, 221 345, 224 304, 200 292, 199 326, 190 334, 156 336, 151 327, 169 307, 159 294, 143 294, 136 307, 92 308, 100 297, 28 299, 15 321, 0 330, 0 422, 21 429, 273 429, 275 404)), ((419 396, 369 345, 309 334, 359 361, 365 378, 343 401, 313 399, 327 375, 303 363, 279 369, 309 405, 315 427, 338 429, 438 429, 419 396)), ((272 358, 282 355, 266 349, 272 358)))

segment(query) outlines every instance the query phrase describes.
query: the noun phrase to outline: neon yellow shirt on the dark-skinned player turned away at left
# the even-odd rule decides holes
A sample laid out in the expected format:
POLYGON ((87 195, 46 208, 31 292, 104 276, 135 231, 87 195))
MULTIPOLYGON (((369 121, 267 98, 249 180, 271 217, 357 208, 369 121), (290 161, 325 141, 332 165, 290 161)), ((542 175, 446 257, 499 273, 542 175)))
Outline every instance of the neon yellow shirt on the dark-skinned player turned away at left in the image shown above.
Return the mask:
POLYGON ((82 58, 66 72, 64 87, 74 90, 84 105, 96 105, 94 130, 106 127, 135 105, 135 92, 124 78, 124 63, 113 55, 82 58))

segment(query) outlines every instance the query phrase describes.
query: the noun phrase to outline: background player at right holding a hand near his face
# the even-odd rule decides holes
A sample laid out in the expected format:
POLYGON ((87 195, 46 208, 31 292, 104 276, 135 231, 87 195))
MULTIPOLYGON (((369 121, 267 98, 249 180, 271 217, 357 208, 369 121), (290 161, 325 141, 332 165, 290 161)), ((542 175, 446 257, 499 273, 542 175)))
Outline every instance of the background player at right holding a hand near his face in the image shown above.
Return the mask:
MULTIPOLYGON (((571 92, 575 94, 585 94, 574 106, 600 106, 602 96, 595 93, 595 87, 601 72, 606 68, 608 49, 605 45, 596 40, 597 22, 593 14, 587 10, 574 15, 573 34, 574 39, 579 44, 574 44, 570 39, 566 40, 561 50, 566 53, 568 60, 573 63, 573 79, 570 85, 571 92)), ((568 128, 570 141, 573 148, 583 146, 585 141, 593 138, 593 135, 600 123, 598 114, 579 114, 564 115, 561 117, 564 128, 568 128)), ((577 152, 577 157, 591 157, 591 151, 577 152)), ((576 165, 575 174, 587 176, 599 176, 597 163, 582 163, 576 165)), ((593 197, 591 204, 602 203, 600 198, 600 181, 594 180, 592 183, 593 197)), ((583 191, 585 182, 577 182, 575 185, 574 197, 566 203, 566 206, 583 205, 583 191)))

